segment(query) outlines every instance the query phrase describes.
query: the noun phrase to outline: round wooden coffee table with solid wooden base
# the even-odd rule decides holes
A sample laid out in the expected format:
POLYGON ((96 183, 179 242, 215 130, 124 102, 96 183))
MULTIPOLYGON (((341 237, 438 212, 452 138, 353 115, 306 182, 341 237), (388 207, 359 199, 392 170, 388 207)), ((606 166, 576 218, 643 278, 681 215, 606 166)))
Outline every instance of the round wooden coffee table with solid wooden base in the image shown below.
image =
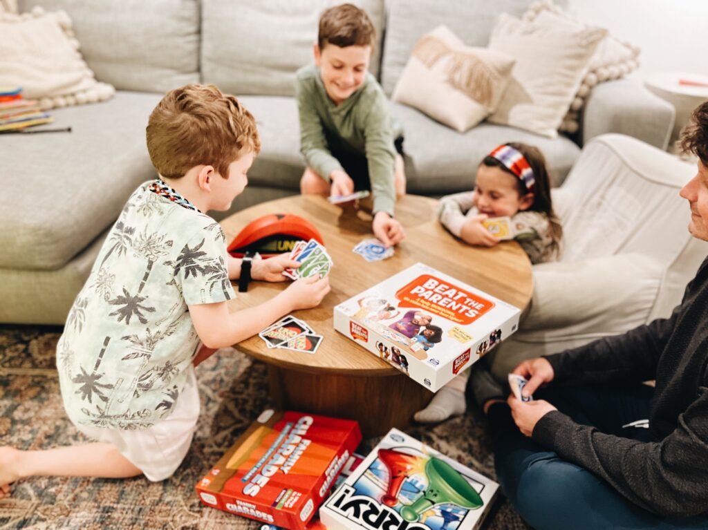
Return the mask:
MULTIPOLYGON (((268 363, 270 392, 278 405, 358 420, 365 437, 409 424, 433 393, 336 332, 333 309, 414 263, 434 267, 525 309, 531 299, 532 270, 518 243, 468 246, 442 228, 435 207, 435 200, 417 195, 396 202, 396 218, 406 238, 392 258, 375 263, 367 263, 352 251, 362 239, 373 237, 370 214, 351 205, 329 204, 323 197, 295 195, 263 202, 221 221, 227 241, 232 241, 246 224, 263 215, 299 215, 317 227, 334 263, 329 277, 332 290, 320 306, 293 313, 323 336, 314 355, 269 349, 258 336, 235 346, 268 363)), ((229 301, 229 309, 238 311, 268 301, 288 283, 252 282, 249 292, 229 301)))

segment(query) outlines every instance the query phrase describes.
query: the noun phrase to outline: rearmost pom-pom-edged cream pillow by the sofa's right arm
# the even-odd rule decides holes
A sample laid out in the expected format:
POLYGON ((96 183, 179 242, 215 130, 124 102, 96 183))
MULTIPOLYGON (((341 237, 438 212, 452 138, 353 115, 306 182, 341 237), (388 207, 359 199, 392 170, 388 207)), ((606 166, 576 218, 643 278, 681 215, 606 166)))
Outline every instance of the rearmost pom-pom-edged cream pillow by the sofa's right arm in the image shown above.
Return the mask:
MULTIPOLYGON (((582 29, 587 26, 565 13, 553 3, 553 0, 541 0, 531 4, 523 16, 526 21, 536 21, 547 27, 566 25, 569 28, 582 29)), ((585 104, 585 99, 593 86, 603 81, 620 79, 639 67, 639 48, 622 42, 610 34, 598 44, 593 57, 590 57, 588 71, 576 93, 570 110, 561 122, 563 132, 578 130, 578 116, 585 104)))

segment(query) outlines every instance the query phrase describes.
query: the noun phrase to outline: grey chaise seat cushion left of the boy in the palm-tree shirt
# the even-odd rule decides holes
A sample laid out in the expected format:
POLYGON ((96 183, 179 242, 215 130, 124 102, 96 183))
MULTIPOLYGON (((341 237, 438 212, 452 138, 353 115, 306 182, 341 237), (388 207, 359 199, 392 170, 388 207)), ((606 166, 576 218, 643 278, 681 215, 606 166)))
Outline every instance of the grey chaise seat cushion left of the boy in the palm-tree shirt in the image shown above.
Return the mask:
POLYGON ((115 221, 137 185, 155 178, 147 118, 161 96, 118 92, 53 110, 72 132, 0 137, 0 267, 55 270, 115 221))

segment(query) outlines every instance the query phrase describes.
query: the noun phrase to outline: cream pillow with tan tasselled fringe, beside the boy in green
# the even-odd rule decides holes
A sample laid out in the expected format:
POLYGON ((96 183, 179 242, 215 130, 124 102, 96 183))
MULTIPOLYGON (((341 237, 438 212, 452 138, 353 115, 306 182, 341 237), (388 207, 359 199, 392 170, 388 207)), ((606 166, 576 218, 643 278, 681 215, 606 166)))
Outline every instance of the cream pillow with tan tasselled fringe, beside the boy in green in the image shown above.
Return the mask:
POLYGON ((418 40, 393 100, 465 132, 496 109, 513 57, 464 45, 444 25, 418 40))

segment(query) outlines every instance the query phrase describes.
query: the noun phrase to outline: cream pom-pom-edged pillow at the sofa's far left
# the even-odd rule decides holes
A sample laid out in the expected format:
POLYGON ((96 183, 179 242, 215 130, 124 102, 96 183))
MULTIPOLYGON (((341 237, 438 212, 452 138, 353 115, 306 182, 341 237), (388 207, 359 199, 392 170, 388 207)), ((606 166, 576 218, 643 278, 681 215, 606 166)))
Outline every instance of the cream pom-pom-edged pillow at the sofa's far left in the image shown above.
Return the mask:
POLYGON ((0 83, 21 86, 23 96, 42 108, 93 103, 113 96, 99 83, 79 53, 72 21, 64 11, 0 13, 0 83))

